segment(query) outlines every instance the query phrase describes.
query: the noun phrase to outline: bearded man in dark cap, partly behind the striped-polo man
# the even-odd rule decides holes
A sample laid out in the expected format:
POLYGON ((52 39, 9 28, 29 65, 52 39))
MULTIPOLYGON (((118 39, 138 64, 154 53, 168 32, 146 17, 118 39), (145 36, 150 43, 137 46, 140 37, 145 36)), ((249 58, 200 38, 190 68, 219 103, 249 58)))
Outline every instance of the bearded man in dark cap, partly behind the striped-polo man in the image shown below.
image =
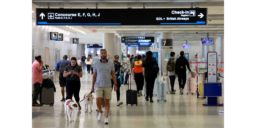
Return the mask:
MULTIPOLYGON (((117 91, 116 91, 117 104, 116 104, 116 106, 123 104, 123 102, 120 101, 120 87, 121 87, 120 73, 121 73, 121 71, 123 71, 124 73, 131 75, 129 69, 125 68, 124 65, 121 65, 121 63, 118 62, 118 60, 119 60, 119 56, 115 55, 114 56, 114 66, 115 66, 116 82, 117 82, 117 91), (120 68, 121 68, 121 70, 120 70, 120 68)), ((113 90, 113 86, 114 86, 113 78, 111 79, 111 85, 112 85, 112 90, 113 90)), ((111 90, 111 92, 112 92, 112 90, 111 90)))

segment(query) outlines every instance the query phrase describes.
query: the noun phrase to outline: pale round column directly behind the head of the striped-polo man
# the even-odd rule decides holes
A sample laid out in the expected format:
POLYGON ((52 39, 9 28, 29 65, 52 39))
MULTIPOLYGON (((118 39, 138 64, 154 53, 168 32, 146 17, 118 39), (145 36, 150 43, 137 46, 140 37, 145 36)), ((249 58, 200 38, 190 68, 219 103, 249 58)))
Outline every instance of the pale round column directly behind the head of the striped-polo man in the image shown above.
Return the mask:
POLYGON ((103 33, 103 45, 102 48, 107 50, 107 54, 114 57, 115 55, 115 34, 103 33))

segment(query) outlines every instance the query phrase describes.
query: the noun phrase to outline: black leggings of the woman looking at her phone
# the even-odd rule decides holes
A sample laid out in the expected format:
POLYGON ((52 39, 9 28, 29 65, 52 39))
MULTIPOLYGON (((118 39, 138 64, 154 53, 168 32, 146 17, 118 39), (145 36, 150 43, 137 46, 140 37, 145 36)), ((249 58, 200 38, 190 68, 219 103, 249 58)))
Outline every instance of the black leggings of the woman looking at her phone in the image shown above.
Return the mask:
POLYGON ((81 88, 81 83, 80 81, 75 81, 75 80, 67 80, 66 81, 66 90, 68 93, 68 99, 72 100, 73 94, 75 97, 76 102, 78 103, 80 98, 79 98, 79 92, 81 88))

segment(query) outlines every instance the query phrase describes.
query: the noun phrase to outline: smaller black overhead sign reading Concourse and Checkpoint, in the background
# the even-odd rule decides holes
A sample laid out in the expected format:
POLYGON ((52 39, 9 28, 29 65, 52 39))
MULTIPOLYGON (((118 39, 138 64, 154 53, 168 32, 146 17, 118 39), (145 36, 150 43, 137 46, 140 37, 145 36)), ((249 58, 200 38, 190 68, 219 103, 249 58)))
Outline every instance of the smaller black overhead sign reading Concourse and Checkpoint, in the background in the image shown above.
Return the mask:
POLYGON ((145 36, 123 36, 121 37, 121 43, 154 43, 154 37, 145 36))

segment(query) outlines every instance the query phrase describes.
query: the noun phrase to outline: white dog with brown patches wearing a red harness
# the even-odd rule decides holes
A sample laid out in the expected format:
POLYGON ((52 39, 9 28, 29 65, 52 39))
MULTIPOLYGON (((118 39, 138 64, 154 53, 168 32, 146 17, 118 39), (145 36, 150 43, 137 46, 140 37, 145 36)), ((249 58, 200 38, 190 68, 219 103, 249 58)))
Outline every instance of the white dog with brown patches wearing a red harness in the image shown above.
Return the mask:
POLYGON ((64 103, 64 106, 65 106, 65 114, 66 114, 66 120, 68 121, 74 121, 74 110, 78 110, 79 107, 78 107, 78 104, 76 102, 74 102, 73 100, 66 100, 65 103, 64 103), (71 117, 70 117, 71 116, 71 117))

